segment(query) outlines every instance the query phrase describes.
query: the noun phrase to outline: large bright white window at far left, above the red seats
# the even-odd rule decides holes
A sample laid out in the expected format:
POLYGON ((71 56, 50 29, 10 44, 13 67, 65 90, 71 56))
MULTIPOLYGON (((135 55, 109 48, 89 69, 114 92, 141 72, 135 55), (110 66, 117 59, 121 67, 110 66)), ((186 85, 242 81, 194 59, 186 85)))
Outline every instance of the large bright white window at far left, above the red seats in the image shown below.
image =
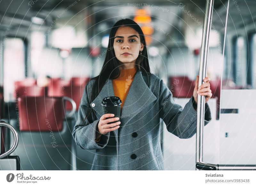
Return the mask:
POLYGON ((15 81, 25 78, 25 45, 21 38, 8 37, 4 44, 4 101, 14 100, 15 81))

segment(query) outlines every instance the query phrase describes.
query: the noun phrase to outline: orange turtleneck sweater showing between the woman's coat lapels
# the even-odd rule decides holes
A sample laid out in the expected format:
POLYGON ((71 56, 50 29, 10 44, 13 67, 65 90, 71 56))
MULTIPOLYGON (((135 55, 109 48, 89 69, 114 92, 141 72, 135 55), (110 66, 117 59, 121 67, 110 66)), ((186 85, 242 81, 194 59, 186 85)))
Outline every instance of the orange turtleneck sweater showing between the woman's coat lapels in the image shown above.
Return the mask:
POLYGON ((122 100, 121 104, 121 113, 124 106, 124 101, 131 87, 134 75, 137 70, 136 67, 129 69, 120 69, 120 75, 118 78, 113 79, 113 89, 116 97, 119 97, 122 100))

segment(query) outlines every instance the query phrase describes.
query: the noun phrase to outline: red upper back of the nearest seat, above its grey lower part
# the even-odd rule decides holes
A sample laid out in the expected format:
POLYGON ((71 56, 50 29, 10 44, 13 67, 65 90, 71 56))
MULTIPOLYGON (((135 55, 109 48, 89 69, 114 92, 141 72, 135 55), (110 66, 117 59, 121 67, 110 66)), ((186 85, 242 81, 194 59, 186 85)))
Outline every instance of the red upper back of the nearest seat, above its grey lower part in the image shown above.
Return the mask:
POLYGON ((19 97, 20 131, 61 131, 64 104, 62 97, 19 97))

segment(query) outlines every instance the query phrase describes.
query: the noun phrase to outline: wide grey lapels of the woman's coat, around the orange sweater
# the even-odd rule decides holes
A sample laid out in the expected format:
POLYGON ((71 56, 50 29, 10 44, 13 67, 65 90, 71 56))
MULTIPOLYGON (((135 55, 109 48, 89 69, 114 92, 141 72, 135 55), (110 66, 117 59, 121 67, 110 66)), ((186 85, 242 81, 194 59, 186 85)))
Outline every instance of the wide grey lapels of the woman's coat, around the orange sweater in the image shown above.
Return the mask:
MULTIPOLYGON (((148 79, 148 77, 147 77, 148 79)), ((94 103, 95 106, 92 107, 100 116, 104 114, 101 101, 103 98, 108 96, 115 96, 113 83, 111 79, 108 79, 101 89, 99 95, 90 104, 94 103)), ((124 106, 121 114, 121 123, 125 126, 132 118, 134 118, 139 112, 146 108, 149 104, 156 100, 156 96, 148 88, 148 85, 144 81, 141 71, 137 70, 134 75, 131 87, 124 101, 124 106)), ((123 101, 123 100, 122 100, 123 101)), ((122 130, 124 127, 122 127, 122 130)), ((120 131, 120 133, 122 132, 120 131)), ((118 136, 118 131, 113 131, 116 136, 118 136)))

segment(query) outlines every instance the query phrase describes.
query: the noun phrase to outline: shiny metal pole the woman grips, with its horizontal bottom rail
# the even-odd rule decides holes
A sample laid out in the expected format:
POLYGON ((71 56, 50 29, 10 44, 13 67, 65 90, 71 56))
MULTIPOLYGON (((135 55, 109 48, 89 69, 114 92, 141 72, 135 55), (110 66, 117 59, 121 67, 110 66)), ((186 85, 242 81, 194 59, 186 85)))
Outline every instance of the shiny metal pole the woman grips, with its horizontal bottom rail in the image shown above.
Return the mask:
MULTIPOLYGON (((208 50, 209 50, 208 43, 209 43, 209 34, 210 34, 211 23, 212 23, 213 2, 214 0, 206 1, 198 87, 202 85, 203 80, 206 76, 207 56, 208 56, 208 50)), ((225 38, 226 38, 226 31, 227 31, 228 8, 229 8, 229 0, 228 0, 226 24, 225 24, 223 56, 224 56, 225 38)), ((209 164, 209 163, 203 162, 204 110, 205 110, 205 97, 198 95, 197 123, 196 123, 196 170, 256 170, 256 165, 219 165, 219 164, 215 165, 215 164, 209 164)))

